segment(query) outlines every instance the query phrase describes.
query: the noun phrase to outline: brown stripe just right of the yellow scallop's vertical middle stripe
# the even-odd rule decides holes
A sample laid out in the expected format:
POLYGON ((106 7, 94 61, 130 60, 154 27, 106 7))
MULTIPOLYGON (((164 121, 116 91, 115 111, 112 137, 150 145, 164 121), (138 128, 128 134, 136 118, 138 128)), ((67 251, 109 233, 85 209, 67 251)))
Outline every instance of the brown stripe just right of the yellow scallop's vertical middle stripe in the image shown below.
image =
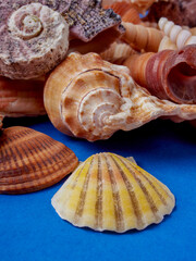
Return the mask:
MULTIPOLYGON (((117 231, 118 232, 122 232, 124 231, 124 224, 123 224, 123 211, 121 208, 121 198, 117 188, 117 181, 111 167, 111 164, 107 158, 107 154, 103 153, 105 159, 106 159, 106 163, 108 166, 108 171, 109 171, 109 176, 110 176, 110 182, 111 182, 111 187, 112 187, 112 194, 113 194, 113 202, 114 202, 114 214, 115 214, 115 226, 117 226, 117 231)), ((112 158, 111 158, 112 159, 112 158)))

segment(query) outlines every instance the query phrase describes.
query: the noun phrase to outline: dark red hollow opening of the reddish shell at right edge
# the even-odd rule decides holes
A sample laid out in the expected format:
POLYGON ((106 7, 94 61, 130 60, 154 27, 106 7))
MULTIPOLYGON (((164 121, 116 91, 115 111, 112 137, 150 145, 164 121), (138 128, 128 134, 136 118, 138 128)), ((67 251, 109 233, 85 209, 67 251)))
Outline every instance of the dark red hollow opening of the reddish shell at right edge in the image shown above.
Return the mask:
POLYGON ((185 62, 177 64, 168 75, 168 85, 176 99, 196 103, 196 69, 185 62))

